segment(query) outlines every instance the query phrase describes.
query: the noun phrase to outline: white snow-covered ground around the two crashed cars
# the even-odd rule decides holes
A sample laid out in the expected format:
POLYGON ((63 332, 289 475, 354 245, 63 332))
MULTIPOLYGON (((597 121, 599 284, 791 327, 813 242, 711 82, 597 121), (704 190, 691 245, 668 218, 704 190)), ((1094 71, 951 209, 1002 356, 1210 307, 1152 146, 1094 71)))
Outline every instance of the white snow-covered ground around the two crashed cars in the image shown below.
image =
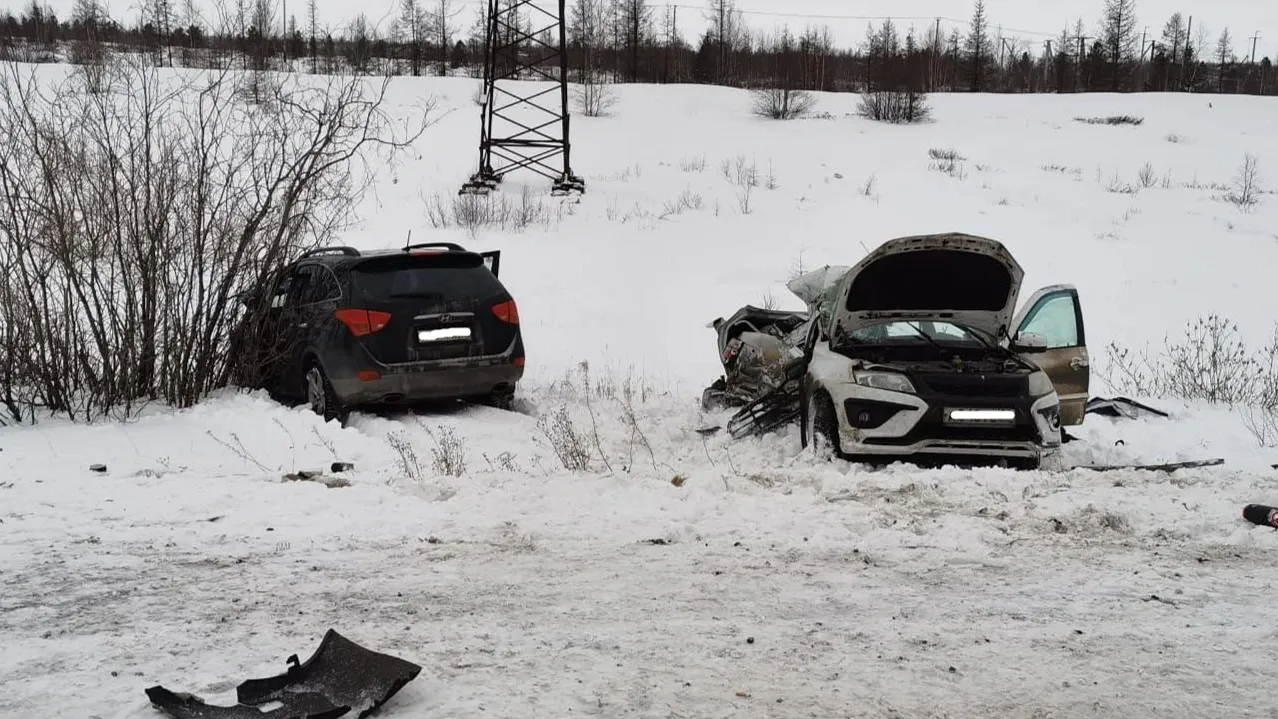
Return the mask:
MULTIPOLYGON (((0 716, 158 716, 157 683, 229 704, 330 627, 424 667, 392 719, 1278 716, 1278 535, 1240 518, 1278 504, 1278 452, 1226 410, 1089 416, 1067 446, 1068 464, 1227 460, 1171 475, 870 471, 801 453, 796 429, 695 432, 725 419, 697 405, 720 372, 709 321, 799 308, 795 268, 898 235, 997 238, 1022 296, 1079 286, 1094 365, 1209 312, 1263 344, 1278 195, 1218 197, 1246 152, 1278 188, 1272 98, 937 96, 933 124, 900 128, 854 96, 778 124, 737 91, 622 87, 612 116, 573 119, 579 204, 529 180, 544 223, 472 236, 427 206, 473 170, 474 82, 394 91, 436 96, 440 121, 349 243, 502 249, 521 411, 341 429, 226 393, 0 428, 0 716), (1118 114, 1145 121, 1074 120, 1118 114), (937 171, 932 148, 965 160, 937 171), (760 178, 748 213, 722 170, 739 158, 760 178), (602 450, 590 471, 542 432, 561 407, 602 450), (464 467, 436 461, 450 437, 464 467), (337 460, 349 487, 284 479, 337 460)), ((525 179, 502 194, 521 203, 525 179)))

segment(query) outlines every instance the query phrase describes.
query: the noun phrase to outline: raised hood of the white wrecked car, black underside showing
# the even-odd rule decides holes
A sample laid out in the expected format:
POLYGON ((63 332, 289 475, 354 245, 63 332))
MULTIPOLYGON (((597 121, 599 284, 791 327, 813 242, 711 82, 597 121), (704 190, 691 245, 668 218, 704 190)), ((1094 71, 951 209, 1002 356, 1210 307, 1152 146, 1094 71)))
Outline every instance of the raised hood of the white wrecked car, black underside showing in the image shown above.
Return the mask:
POLYGON ((952 322, 1001 337, 1025 272, 997 240, 964 234, 888 240, 843 277, 831 336, 882 322, 952 322))

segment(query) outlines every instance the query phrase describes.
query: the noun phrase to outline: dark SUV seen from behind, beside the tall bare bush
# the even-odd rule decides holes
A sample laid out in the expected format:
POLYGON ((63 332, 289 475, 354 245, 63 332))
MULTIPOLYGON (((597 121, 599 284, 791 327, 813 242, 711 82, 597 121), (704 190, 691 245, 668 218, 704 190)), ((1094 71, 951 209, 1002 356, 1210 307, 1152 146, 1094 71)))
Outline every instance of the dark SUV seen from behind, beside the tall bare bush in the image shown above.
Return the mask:
POLYGON ((451 243, 311 250, 245 301, 243 383, 326 420, 435 400, 509 409, 524 341, 500 263, 451 243))

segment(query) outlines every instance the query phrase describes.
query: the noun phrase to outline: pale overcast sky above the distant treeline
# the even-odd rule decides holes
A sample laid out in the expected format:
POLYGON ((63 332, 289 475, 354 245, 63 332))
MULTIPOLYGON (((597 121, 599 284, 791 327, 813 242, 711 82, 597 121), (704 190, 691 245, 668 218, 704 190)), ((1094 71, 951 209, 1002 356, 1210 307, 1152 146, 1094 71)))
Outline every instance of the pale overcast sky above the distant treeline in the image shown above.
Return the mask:
MULTIPOLYGON (((59 17, 70 13, 73 0, 46 0, 59 17)), ((196 0, 212 10, 215 0, 196 0)), ((229 3, 230 0, 227 0, 229 3)), ((317 0, 321 24, 335 29, 345 26, 357 13, 364 11, 368 18, 382 28, 390 27, 397 0, 317 0)), ((679 26, 682 33, 693 38, 705 27, 703 9, 707 0, 685 0, 670 3, 679 5, 679 26)), ((746 23, 758 29, 772 29, 782 24, 803 28, 808 23, 828 24, 840 45, 854 45, 865 36, 865 24, 872 19, 891 15, 902 27, 911 23, 920 28, 943 18, 943 24, 952 19, 966 24, 971 15, 969 0, 736 0, 737 8, 745 13, 746 23), (822 17, 823 15, 823 17, 822 17)), ((29 0, 0 0, 0 6, 8 5, 19 10, 29 0)), ((137 17, 138 0, 106 0, 110 13, 116 19, 137 17)), ((289 0, 289 14, 300 18, 305 13, 307 0, 289 0)), ((478 9, 486 5, 483 0, 452 0, 460 10, 459 23, 469 27, 478 9)), ((539 0, 553 6, 555 0, 539 0)), ((180 4, 180 3, 175 3, 180 4)), ((429 4, 429 0, 423 0, 429 4)), ((649 4, 662 13, 667 3, 649 0, 649 4)), ((987 8, 993 26, 1002 24, 1005 34, 1020 37, 1042 46, 1042 41, 1056 37, 1067 24, 1080 17, 1089 32, 1094 31, 1103 0, 987 0, 987 8)), ((1149 27, 1150 34, 1162 32, 1163 23, 1174 13, 1194 15, 1195 29, 1205 27, 1212 41, 1228 27, 1235 38, 1238 55, 1250 55, 1251 36, 1260 33, 1259 55, 1278 56, 1278 0, 1136 0, 1136 14, 1140 29, 1149 27)))

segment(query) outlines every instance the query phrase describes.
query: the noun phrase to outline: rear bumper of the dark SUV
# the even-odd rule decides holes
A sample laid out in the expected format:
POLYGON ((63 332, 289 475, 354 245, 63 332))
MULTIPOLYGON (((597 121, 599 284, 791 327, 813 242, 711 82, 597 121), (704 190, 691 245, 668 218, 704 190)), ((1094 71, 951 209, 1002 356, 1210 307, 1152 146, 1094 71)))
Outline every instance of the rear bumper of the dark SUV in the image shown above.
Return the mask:
POLYGON ((523 341, 516 337, 500 355, 437 361, 382 364, 364 355, 364 367, 330 373, 332 388, 346 407, 401 405, 431 400, 489 397, 515 391, 523 379, 523 341), (360 379, 360 372, 376 372, 376 379, 360 379))

